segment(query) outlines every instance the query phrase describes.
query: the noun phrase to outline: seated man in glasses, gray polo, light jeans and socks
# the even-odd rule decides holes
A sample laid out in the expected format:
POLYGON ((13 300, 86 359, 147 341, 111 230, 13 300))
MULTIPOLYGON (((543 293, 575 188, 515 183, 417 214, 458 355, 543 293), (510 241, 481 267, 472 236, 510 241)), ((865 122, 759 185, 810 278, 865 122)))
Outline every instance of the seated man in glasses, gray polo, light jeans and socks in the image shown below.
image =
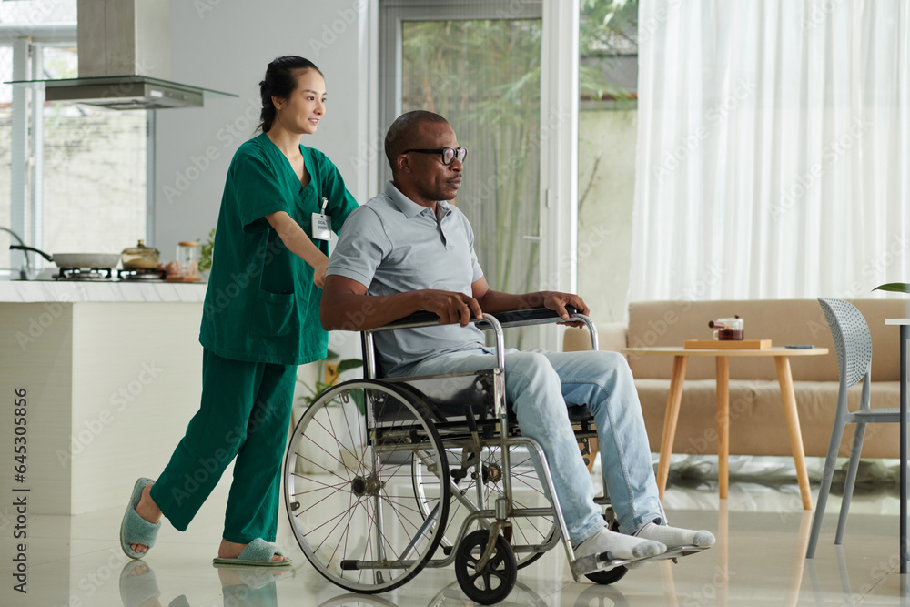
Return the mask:
MULTIPOLYGON (((483 312, 547 308, 568 320, 567 306, 588 313, 577 295, 541 291, 511 295, 487 284, 465 216, 450 205, 467 150, 449 123, 415 111, 385 139, 392 181, 351 213, 329 259, 320 309, 325 329, 376 329, 418 310, 440 326, 375 335, 387 376, 431 375, 495 366, 480 329, 483 312)), ((524 436, 546 454, 577 558, 611 551, 647 559, 683 546, 707 548, 709 531, 666 524, 632 371, 615 352, 507 350, 506 396, 524 436), (591 476, 567 407, 585 403, 601 445, 603 477, 619 532, 607 528, 594 502, 591 476)))

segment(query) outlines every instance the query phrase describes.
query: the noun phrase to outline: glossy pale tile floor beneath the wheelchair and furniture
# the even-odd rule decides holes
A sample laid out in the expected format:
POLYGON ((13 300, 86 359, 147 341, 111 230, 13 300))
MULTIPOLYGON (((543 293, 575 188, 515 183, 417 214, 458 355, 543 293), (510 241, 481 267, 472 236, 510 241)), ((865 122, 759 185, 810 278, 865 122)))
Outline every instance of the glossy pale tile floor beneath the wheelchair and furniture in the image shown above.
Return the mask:
MULTIPOLYGON (((132 480, 124 480, 124 501, 132 480)), ((0 605, 470 605, 451 567, 425 569, 398 590, 357 595, 325 581, 306 561, 281 516, 279 543, 294 559, 283 572, 215 569, 227 478, 189 531, 167 526, 145 561, 130 561, 117 541, 122 509, 28 521, 27 594, 13 591, 11 527, 4 524, 0 605)), ((813 502, 815 495, 813 496, 813 502)), ((834 546, 840 506, 832 495, 816 558, 804 560, 812 520, 795 483, 678 483, 665 504, 674 524, 717 536, 710 551, 628 573, 612 586, 572 582, 563 552, 553 550, 519 572, 502 605, 905 605, 897 561, 895 489, 854 497, 843 547, 834 546)), ((906 576, 904 576, 906 577, 906 576)))

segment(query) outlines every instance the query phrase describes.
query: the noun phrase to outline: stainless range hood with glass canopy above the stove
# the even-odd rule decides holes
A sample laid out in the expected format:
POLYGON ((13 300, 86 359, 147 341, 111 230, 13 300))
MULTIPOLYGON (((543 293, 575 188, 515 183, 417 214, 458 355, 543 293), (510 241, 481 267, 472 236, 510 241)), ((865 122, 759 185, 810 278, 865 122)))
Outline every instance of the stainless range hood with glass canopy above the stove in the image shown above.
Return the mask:
POLYGON ((47 101, 165 109, 236 96, 170 81, 170 0, 78 0, 76 32, 79 77, 45 80, 47 101))

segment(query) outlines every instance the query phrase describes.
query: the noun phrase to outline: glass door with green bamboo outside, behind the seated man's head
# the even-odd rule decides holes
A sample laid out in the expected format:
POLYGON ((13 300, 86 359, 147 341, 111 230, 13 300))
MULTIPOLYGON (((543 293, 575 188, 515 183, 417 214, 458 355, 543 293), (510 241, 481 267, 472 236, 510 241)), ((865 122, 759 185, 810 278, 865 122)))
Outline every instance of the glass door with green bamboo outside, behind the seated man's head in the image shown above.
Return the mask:
MULTIPOLYGON (((454 204, 470 219, 491 288, 541 288, 541 5, 380 5, 380 130, 425 109, 467 147, 454 204)), ((384 130, 383 130, 384 135, 384 130)), ((391 178, 381 163, 382 183, 391 178)), ((538 347, 539 332, 511 331, 538 347)))

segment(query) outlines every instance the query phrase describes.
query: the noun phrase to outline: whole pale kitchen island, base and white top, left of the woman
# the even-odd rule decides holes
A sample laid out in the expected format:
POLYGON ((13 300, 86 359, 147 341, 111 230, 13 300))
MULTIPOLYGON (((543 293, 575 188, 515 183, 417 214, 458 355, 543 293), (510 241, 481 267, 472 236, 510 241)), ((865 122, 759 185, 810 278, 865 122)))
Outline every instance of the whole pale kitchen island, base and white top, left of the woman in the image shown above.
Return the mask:
POLYGON ((22 480, 10 471, 0 491, 29 491, 35 514, 77 514, 122 506, 136 477, 160 473, 199 406, 205 295, 199 283, 0 282, 0 449, 11 459, 23 437, 27 449, 22 480))

